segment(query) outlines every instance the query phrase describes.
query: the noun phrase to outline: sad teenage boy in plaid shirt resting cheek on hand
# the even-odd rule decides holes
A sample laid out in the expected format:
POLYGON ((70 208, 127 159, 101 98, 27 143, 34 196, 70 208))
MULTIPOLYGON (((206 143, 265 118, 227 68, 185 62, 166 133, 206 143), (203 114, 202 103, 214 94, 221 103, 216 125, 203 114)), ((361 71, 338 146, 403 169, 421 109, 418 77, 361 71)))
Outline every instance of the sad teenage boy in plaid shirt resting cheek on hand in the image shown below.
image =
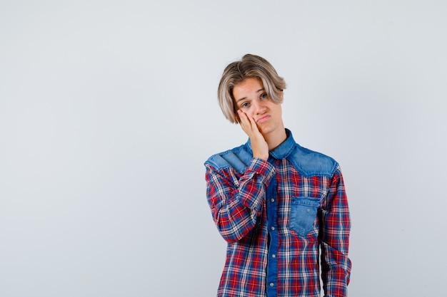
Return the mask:
POLYGON ((293 140, 285 88, 250 54, 219 83, 221 110, 249 139, 205 162, 211 213, 228 242, 218 296, 319 297, 320 276, 325 296, 346 296, 351 220, 340 166, 293 140))

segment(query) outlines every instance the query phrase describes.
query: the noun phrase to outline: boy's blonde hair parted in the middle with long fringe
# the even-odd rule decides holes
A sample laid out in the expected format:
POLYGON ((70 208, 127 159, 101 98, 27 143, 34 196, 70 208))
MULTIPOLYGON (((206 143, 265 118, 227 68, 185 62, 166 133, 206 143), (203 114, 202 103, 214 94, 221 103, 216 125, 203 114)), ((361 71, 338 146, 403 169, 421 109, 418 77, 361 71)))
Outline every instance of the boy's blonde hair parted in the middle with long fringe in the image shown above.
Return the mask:
POLYGON ((231 123, 238 123, 233 88, 246 78, 258 78, 266 89, 268 98, 277 104, 283 102, 282 93, 286 88, 284 79, 276 73, 275 68, 266 59, 248 53, 242 57, 241 61, 226 66, 217 89, 222 113, 231 123))

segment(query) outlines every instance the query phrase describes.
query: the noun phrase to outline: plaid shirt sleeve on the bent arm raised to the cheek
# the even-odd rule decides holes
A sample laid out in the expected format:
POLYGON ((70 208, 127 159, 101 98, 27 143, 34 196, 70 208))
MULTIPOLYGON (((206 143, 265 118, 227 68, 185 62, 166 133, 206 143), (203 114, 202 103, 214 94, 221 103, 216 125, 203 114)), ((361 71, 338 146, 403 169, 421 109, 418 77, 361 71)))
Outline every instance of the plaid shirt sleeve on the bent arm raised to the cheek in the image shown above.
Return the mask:
POLYGON ((238 180, 231 171, 219 171, 206 164, 206 197, 221 236, 235 242, 256 226, 275 168, 265 160, 253 158, 238 180))

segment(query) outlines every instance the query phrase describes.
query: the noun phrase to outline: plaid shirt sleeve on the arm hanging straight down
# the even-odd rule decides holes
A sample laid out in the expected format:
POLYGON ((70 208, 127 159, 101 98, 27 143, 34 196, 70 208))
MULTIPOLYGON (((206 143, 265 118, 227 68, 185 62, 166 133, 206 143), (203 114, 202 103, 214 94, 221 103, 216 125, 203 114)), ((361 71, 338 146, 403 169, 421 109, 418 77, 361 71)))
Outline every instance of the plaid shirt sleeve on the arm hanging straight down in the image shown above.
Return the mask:
POLYGON ((347 296, 351 217, 340 167, 333 174, 321 209, 321 278, 326 297, 347 296))

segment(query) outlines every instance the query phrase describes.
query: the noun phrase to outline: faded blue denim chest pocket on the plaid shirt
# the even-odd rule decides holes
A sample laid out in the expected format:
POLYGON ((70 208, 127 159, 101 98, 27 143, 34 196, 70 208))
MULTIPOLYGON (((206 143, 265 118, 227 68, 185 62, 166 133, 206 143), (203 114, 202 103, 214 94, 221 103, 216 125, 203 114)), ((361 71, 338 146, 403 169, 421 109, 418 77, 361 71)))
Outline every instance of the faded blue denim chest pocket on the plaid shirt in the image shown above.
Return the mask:
POLYGON ((292 197, 290 229, 300 236, 306 236, 313 229, 320 199, 313 197, 292 197))

